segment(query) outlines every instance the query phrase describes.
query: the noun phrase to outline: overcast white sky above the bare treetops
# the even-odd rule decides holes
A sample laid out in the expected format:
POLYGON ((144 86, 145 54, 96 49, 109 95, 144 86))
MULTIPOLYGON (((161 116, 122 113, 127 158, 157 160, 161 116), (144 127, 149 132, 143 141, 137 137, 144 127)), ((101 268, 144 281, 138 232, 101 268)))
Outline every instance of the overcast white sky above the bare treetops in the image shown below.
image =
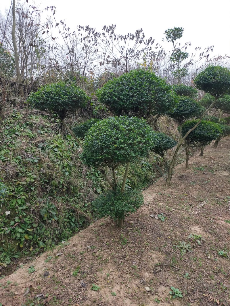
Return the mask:
MULTIPOLYGON (((20 0, 20 2, 25 2, 20 0)), ((182 27, 182 43, 192 46, 214 45, 213 54, 230 55, 229 0, 35 0, 40 9, 56 6, 56 20, 65 19, 74 30, 76 25, 90 25, 101 31, 104 25, 117 25, 119 34, 143 28, 145 37, 162 41, 167 28, 182 27)), ((10 8, 11 0, 0 0, 0 10, 10 8)), ((29 0, 29 4, 33 1, 29 0)), ((171 50, 171 45, 163 46, 171 50)))

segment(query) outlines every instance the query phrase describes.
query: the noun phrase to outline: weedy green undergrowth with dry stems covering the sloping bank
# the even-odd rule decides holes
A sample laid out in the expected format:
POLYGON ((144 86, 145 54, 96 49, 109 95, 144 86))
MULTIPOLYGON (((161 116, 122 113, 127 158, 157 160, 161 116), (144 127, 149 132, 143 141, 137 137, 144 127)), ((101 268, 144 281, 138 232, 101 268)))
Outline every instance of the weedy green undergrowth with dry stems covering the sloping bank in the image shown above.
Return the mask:
MULTIPOLYGON (((109 185, 79 159, 81 149, 46 116, 12 110, 1 122, 0 265, 70 238, 97 216, 90 202, 109 185)), ((160 158, 137 160, 127 184, 144 188, 159 176, 160 158)), ((117 170, 118 179, 124 171, 117 170)))

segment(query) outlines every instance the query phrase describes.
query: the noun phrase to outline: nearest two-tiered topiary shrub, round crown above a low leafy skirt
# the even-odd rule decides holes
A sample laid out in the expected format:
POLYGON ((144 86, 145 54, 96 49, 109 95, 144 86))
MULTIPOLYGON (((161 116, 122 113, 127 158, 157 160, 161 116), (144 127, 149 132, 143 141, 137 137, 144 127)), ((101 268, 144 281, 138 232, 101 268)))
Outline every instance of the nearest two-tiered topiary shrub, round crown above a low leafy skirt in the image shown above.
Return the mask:
POLYGON ((120 116, 95 123, 85 136, 82 161, 100 170, 112 188, 108 195, 96 200, 95 207, 100 211, 100 215, 116 218, 120 227, 124 225, 125 215, 135 211, 138 207, 137 202, 141 199, 138 192, 131 192, 125 188, 130 162, 148 154, 155 146, 155 134, 145 120, 120 116), (121 184, 116 175, 119 164, 126 165, 121 184), (105 205, 107 200, 110 206, 105 205), (100 210, 98 205, 101 207, 100 210))

